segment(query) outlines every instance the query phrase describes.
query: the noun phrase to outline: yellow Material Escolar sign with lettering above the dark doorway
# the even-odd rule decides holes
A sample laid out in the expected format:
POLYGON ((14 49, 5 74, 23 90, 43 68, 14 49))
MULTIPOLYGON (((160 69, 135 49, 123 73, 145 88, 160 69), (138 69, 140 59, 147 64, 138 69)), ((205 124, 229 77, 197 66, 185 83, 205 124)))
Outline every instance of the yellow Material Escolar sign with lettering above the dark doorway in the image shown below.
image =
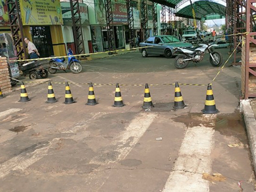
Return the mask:
POLYGON ((23 25, 63 25, 60 0, 19 0, 23 25))

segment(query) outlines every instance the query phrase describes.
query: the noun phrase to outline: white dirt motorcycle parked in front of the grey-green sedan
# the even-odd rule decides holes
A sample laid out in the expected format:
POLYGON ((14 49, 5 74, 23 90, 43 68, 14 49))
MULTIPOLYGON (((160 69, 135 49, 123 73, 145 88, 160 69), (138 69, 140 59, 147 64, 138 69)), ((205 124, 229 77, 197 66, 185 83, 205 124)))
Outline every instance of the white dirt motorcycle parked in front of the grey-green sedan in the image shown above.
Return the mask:
POLYGON ((175 49, 175 52, 180 52, 182 54, 176 57, 174 65, 178 69, 183 69, 188 66, 190 61, 193 61, 195 63, 202 61, 204 55, 209 52, 210 63, 213 67, 219 67, 222 64, 223 58, 220 52, 214 50, 215 46, 218 45, 205 44, 204 42, 203 44, 199 44, 197 47, 194 48, 177 48, 175 49))

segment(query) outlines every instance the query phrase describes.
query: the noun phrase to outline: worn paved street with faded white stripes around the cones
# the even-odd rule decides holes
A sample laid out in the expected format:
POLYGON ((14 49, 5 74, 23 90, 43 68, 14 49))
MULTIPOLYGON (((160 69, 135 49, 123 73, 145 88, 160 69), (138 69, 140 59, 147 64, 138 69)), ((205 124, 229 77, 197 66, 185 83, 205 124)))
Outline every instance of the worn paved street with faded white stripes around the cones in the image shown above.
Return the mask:
MULTIPOLYGON (((229 49, 217 51, 224 63, 229 49)), ((6 95, 0 100, 0 191, 253 192, 238 109, 240 67, 228 62, 212 82, 221 67, 212 67, 209 55, 185 69, 176 69, 174 60, 130 52, 83 62, 80 74, 49 75, 58 99, 53 104, 45 103, 47 83, 26 88, 26 103, 18 102, 19 91, 6 95), (76 103, 63 104, 65 81, 76 103), (173 109, 175 87, 166 85, 176 81, 184 109, 173 109), (89 82, 95 84, 95 106, 85 105, 89 82), (122 108, 112 107, 116 83, 122 108), (155 106, 150 111, 141 108, 145 83, 155 106), (208 83, 218 114, 201 112, 208 83), (215 173, 224 178, 203 178, 215 173)))

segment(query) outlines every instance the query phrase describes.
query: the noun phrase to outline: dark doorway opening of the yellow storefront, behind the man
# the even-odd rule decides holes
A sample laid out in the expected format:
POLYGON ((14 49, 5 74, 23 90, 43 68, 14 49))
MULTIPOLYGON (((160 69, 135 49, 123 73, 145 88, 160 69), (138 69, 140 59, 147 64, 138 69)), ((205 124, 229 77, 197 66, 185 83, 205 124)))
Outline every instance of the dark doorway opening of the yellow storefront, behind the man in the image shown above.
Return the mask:
POLYGON ((30 27, 32 41, 40 53, 40 57, 54 55, 52 47, 52 37, 49 26, 30 27))

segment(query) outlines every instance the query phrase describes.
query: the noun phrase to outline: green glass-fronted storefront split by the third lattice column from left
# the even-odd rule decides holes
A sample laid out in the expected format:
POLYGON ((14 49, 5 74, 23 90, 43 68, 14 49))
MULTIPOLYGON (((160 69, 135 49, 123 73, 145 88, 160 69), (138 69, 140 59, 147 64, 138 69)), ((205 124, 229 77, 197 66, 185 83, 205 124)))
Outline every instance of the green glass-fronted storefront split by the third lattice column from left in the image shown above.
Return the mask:
MULTIPOLYGON (((89 2, 90 3, 90 2, 89 2)), ((94 9, 88 7, 93 52, 108 50, 106 13, 103 0, 94 0, 94 9), (92 19, 91 19, 92 18, 92 19)), ((116 49, 125 48, 125 26, 128 25, 126 1, 113 1, 113 34, 116 49)), ((129 42, 128 42, 129 44, 129 42)))

